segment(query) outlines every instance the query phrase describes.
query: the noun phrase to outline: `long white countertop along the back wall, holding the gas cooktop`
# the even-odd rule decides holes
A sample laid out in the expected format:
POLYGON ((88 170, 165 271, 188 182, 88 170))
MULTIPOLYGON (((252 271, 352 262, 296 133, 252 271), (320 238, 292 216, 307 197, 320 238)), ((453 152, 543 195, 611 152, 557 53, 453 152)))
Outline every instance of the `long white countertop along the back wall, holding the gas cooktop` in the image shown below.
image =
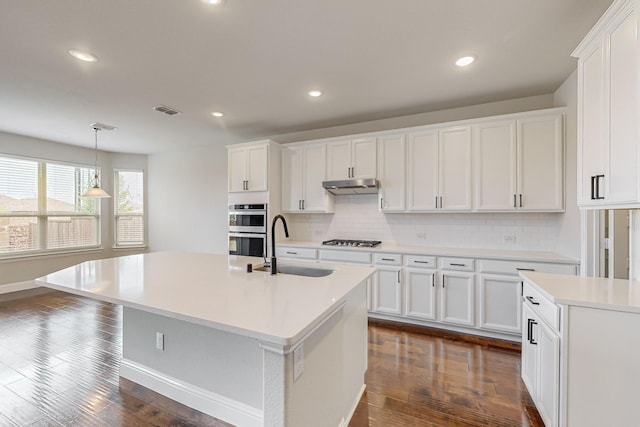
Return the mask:
POLYGON ((553 262, 559 264, 575 264, 579 265, 580 261, 569 258, 554 252, 542 251, 509 251, 498 249, 474 249, 474 248, 442 248, 427 246, 402 246, 394 244, 381 244, 377 248, 353 248, 348 246, 327 246, 322 242, 303 242, 294 240, 282 240, 278 242, 280 246, 295 246, 298 248, 316 248, 327 250, 352 250, 364 252, 393 252, 408 255, 433 255, 433 256, 450 256, 461 258, 484 258, 499 259, 511 261, 531 261, 531 262, 553 262))

